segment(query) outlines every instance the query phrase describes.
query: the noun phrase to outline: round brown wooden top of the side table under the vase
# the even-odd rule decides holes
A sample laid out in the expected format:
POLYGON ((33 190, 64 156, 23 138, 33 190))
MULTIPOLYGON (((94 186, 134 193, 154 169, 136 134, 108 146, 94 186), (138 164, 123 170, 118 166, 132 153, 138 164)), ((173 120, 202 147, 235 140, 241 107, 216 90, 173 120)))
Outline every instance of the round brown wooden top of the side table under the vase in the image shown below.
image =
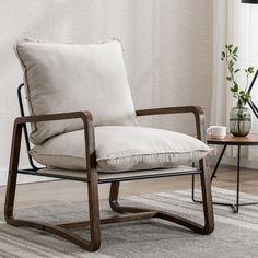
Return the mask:
POLYGON ((207 142, 209 144, 218 145, 258 145, 258 134, 248 134, 246 137, 234 137, 231 133, 227 133, 223 139, 215 139, 207 137, 207 142))

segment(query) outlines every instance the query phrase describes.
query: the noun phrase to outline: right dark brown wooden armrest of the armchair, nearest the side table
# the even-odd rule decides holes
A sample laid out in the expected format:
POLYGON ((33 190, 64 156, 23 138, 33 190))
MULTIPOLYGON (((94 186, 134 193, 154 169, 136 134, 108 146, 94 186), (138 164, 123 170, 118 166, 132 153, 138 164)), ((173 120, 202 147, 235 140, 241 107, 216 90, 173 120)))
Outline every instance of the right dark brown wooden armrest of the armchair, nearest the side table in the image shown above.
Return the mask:
POLYGON ((137 116, 153 116, 153 115, 181 114, 181 113, 194 113, 196 118, 197 138, 206 142, 204 113, 202 108, 199 106, 163 107, 163 108, 136 110, 137 116))

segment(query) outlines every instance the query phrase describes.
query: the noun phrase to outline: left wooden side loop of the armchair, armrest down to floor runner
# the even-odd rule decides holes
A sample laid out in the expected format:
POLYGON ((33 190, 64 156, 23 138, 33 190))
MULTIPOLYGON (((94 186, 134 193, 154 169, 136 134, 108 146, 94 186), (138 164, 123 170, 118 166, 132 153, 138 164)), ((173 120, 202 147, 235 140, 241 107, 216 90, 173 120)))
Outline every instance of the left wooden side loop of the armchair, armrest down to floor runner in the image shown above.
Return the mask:
POLYGON ((101 220, 99 220, 99 204, 98 204, 98 174, 96 171, 96 152, 94 140, 94 126, 92 121, 92 115, 89 112, 74 112, 51 114, 44 116, 27 116, 19 117, 15 119, 13 126, 12 148, 10 156, 8 186, 4 204, 4 216, 9 224, 15 226, 31 226, 38 230, 48 231, 55 233, 63 238, 73 242, 87 250, 96 250, 101 245, 101 220), (27 220, 14 219, 13 206, 15 199, 17 166, 20 159, 22 128, 25 122, 38 122, 38 121, 54 121, 64 119, 82 119, 84 124, 84 139, 85 139, 85 162, 86 162, 86 175, 87 175, 87 195, 89 195, 89 216, 90 216, 90 241, 78 236, 70 231, 64 231, 58 225, 32 222, 27 220))

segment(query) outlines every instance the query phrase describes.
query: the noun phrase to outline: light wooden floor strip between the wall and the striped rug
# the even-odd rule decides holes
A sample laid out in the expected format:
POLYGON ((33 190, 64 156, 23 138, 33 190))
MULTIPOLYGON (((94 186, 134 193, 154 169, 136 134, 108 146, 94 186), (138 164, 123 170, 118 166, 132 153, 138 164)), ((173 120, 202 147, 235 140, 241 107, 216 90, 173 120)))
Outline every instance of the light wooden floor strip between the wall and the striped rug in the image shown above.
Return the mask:
MULTIPOLYGON (((241 171, 241 191, 258 195, 258 171, 241 171)), ((236 168, 220 167, 213 186, 225 189, 236 189, 236 168)), ((189 189, 191 177, 172 177, 162 179, 150 179, 129 181, 121 184, 121 196, 138 195, 142 192, 160 192, 167 190, 189 189)), ((109 184, 99 185, 99 197, 108 197, 109 184)), ((5 187, 0 187, 0 209, 3 209, 5 187)), ((54 180, 17 186, 16 208, 27 208, 36 204, 55 204, 72 201, 86 200, 86 185, 83 183, 54 180)))

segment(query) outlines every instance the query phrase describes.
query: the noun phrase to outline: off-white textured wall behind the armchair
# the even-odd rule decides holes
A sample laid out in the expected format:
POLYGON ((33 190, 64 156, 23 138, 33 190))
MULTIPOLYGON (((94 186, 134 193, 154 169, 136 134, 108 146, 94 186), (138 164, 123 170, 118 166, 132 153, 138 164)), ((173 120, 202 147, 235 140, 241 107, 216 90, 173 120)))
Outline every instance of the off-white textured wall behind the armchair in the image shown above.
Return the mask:
MULTIPOLYGON (((16 39, 95 43, 118 37, 137 108, 201 105, 209 118, 212 5, 207 0, 0 0, 0 184, 19 114, 16 39)), ((189 117, 159 122, 192 131, 189 117)), ((26 165, 25 155, 21 165, 26 165)))

